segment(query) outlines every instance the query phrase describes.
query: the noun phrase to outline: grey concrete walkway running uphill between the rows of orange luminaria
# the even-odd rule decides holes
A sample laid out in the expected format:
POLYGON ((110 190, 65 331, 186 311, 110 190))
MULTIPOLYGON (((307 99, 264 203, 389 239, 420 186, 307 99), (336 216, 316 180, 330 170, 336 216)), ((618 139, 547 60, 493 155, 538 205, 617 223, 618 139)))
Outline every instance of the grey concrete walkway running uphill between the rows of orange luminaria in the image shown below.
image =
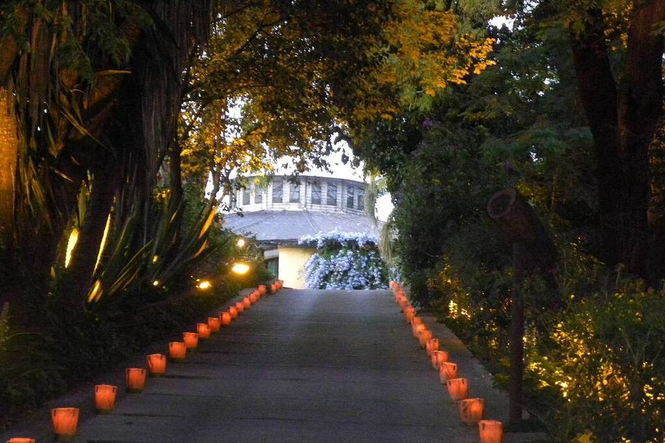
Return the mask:
MULTIPOLYGON (((425 321, 470 395, 486 398, 488 418, 505 419, 506 395, 484 368, 425 321)), ((76 441, 472 443, 477 432, 459 425, 389 291, 284 289, 169 363, 166 377, 123 397, 112 415, 84 416, 76 441)))

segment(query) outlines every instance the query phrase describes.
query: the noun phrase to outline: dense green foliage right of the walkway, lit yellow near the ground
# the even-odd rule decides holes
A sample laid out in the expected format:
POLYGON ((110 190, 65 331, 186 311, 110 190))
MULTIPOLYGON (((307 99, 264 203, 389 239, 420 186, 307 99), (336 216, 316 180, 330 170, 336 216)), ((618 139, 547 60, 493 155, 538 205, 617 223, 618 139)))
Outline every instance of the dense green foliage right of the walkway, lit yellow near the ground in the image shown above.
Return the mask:
MULTIPOLYGON (((488 28, 497 39, 495 66, 437 94, 431 107, 363 128, 355 145, 393 195, 389 226, 412 298, 450 325, 504 386, 511 293, 520 291, 532 413, 521 426, 545 428, 560 442, 661 442, 665 432, 665 293, 657 280, 648 289, 639 267, 629 264, 628 273, 599 260, 607 256, 608 223, 599 199, 608 189, 598 168, 608 154, 598 151, 588 98, 576 83, 575 37, 593 8, 614 17, 605 38, 613 66, 623 67, 629 48, 619 35, 635 16, 620 3, 517 6, 512 30, 488 28), (515 287, 511 245, 486 209, 504 188, 528 199, 556 244, 553 281, 533 276, 515 287)), ((650 151, 656 196, 660 144, 656 138, 650 151)), ((625 183, 620 177, 614 180, 625 183)), ((652 219, 660 204, 652 199, 652 219)))

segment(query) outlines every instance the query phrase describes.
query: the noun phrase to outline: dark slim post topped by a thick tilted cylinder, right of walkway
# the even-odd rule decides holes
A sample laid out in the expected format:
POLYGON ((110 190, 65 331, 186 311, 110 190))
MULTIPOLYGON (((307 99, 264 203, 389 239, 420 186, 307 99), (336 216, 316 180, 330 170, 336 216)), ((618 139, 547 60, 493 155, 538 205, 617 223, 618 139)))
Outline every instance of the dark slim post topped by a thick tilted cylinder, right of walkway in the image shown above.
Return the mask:
POLYGON ((524 392, 524 297, 522 284, 530 275, 540 275, 551 282, 556 266, 554 247, 538 216, 529 203, 514 189, 497 192, 490 198, 488 215, 499 227, 513 251, 515 274, 511 291, 511 370, 509 417, 511 426, 522 422, 524 392))

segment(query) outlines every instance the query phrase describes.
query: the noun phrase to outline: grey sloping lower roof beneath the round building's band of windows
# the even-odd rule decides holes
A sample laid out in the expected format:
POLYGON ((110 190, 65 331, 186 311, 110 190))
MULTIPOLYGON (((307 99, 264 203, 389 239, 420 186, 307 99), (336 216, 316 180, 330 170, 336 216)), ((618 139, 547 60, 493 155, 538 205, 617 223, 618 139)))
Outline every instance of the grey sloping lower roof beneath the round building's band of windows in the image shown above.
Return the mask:
POLYGON ((303 235, 328 233, 335 229, 375 235, 379 229, 361 215, 308 210, 258 210, 242 216, 224 215, 224 221, 224 227, 235 233, 255 235, 259 242, 276 244, 295 244, 303 235))

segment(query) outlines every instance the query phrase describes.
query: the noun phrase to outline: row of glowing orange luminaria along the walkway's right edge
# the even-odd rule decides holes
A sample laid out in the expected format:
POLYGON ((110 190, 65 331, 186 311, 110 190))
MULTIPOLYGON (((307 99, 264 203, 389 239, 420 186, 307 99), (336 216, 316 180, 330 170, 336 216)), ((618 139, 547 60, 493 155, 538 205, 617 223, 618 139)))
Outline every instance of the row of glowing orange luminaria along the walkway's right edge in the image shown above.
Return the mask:
POLYGON ((450 399, 457 404, 461 424, 478 426, 480 443, 501 443, 503 439, 503 425, 496 420, 486 420, 485 400, 469 398, 468 379, 457 377, 457 365, 448 361, 448 352, 439 349, 439 340, 432 336, 423 319, 416 316, 416 309, 411 306, 402 286, 395 281, 390 282, 390 288, 395 295, 395 301, 400 305, 407 323, 411 325, 414 337, 418 339, 420 347, 427 350, 432 361, 432 367, 438 371, 441 383, 445 383, 450 399))

